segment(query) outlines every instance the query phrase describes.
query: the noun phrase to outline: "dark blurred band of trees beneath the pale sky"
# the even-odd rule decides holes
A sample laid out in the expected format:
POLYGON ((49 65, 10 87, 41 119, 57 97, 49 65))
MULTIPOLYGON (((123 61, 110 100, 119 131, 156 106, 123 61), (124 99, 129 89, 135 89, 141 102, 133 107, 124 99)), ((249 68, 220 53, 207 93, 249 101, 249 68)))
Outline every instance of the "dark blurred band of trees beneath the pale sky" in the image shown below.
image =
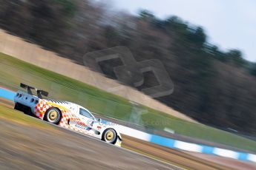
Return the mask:
MULTIPOLYGON (((256 64, 240 50, 220 50, 202 27, 177 16, 159 19, 147 10, 131 16, 109 7, 88 0, 0 0, 0 26, 79 64, 87 52, 116 46, 128 47, 137 61, 159 59, 175 89, 157 100, 201 123, 256 134, 256 64)), ((122 62, 101 65, 115 78, 109 68, 122 62)), ((155 85, 150 72, 145 78, 142 86, 155 85)))

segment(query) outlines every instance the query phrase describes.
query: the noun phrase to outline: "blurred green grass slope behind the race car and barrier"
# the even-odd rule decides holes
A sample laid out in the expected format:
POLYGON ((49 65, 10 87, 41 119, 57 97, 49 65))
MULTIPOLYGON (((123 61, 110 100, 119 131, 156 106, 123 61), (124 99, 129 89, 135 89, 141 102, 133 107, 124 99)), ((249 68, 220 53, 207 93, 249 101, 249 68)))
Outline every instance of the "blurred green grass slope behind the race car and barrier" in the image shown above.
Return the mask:
POLYGON ((50 92, 50 98, 79 103, 103 116, 159 130, 167 127, 180 135, 256 152, 256 142, 253 140, 209 126, 190 123, 145 106, 134 107, 125 98, 0 53, 0 86, 16 90, 19 89, 21 82, 45 89, 50 92), (138 112, 143 114, 140 116, 138 112))

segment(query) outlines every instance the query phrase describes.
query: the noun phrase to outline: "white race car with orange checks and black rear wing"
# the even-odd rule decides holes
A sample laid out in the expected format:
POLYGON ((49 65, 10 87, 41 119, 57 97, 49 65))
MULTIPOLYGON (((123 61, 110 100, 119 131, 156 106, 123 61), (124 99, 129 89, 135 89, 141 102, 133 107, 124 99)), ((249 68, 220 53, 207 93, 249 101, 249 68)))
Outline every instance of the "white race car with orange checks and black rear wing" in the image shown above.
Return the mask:
POLYGON ((43 90, 32 86, 21 84, 27 92, 19 90, 14 97, 15 107, 28 115, 35 115, 37 118, 50 123, 81 132, 86 135, 104 140, 107 143, 121 146, 122 137, 114 128, 114 123, 103 123, 96 119, 88 109, 68 101, 56 101, 43 99, 42 95, 48 95, 43 90), (31 89, 36 90, 37 96, 33 95, 31 89))

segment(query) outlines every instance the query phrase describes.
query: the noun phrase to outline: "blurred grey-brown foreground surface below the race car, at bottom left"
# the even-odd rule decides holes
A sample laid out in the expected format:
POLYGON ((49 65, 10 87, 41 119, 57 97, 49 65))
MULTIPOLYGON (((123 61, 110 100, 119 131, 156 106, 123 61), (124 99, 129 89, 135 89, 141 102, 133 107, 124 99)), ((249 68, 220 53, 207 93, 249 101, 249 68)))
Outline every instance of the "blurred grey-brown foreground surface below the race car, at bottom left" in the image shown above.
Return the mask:
POLYGON ((0 127, 0 169, 179 169, 57 126, 0 127))

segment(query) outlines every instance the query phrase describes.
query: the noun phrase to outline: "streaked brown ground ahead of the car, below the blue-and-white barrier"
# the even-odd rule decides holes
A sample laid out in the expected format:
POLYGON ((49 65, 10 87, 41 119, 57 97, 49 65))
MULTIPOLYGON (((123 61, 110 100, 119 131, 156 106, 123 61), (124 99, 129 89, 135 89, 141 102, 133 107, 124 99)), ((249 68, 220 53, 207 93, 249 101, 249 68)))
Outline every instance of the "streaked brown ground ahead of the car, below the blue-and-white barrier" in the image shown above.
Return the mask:
POLYGON ((195 152, 180 152, 122 135, 122 146, 142 154, 157 157, 157 159, 183 166, 187 169, 255 169, 255 163, 217 157, 195 152))

